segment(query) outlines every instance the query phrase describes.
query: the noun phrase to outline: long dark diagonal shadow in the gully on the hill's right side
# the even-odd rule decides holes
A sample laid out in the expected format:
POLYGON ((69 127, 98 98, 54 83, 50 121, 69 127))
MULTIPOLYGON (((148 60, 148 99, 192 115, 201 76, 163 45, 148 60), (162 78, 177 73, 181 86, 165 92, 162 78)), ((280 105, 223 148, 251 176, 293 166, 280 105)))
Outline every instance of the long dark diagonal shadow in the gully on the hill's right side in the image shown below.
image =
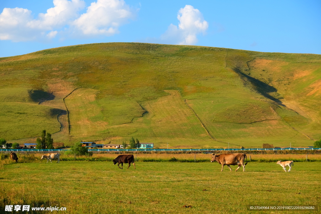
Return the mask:
POLYGON ((272 97, 271 95, 269 95, 268 93, 271 92, 277 92, 277 89, 274 88, 273 86, 270 86, 262 81, 259 81, 245 73, 242 73, 241 70, 236 67, 233 69, 233 71, 235 71, 237 74, 239 74, 239 76, 245 81, 245 82, 250 82, 251 85, 254 87, 254 90, 256 90, 259 94, 261 94, 262 96, 264 96, 265 98, 271 99, 275 102, 277 102, 279 105, 284 106, 284 104, 282 104, 282 101, 272 97))

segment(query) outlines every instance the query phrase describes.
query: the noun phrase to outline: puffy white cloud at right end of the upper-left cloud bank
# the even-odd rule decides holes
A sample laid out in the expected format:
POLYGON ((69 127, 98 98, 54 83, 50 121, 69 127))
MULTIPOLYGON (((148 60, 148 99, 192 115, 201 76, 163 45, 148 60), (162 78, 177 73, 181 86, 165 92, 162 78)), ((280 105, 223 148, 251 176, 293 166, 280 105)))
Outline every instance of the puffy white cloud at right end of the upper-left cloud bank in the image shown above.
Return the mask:
POLYGON ((110 36, 133 16, 124 0, 97 0, 73 24, 84 35, 110 36))

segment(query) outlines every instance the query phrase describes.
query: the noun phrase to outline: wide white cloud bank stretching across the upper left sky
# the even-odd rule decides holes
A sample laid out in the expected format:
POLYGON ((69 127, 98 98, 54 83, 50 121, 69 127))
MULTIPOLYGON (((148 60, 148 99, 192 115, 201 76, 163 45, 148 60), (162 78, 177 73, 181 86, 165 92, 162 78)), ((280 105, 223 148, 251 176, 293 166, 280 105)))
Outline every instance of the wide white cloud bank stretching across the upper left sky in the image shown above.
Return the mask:
POLYGON ((118 27, 133 17, 124 0, 97 0, 87 12, 83 0, 53 0, 54 7, 39 13, 34 19, 31 11, 23 8, 4 8, 0 14, 0 40, 30 41, 55 38, 59 31, 71 27, 77 35, 110 36, 118 27), (79 33, 80 32, 80 33, 79 33))

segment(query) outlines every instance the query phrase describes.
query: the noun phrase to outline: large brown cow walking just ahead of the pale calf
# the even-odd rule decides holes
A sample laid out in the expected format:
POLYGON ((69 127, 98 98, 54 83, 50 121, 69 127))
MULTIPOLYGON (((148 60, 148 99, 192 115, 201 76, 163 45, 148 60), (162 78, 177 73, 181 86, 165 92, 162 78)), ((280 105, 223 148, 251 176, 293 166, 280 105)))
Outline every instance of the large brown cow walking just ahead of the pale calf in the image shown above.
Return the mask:
MULTIPOLYGON (((211 162, 217 161, 219 164, 222 165, 222 170, 224 165, 227 165, 230 170, 232 171, 230 165, 238 165, 239 167, 243 167, 243 172, 245 172, 245 165, 247 165, 247 157, 246 154, 244 153, 233 153, 233 154, 221 154, 221 155, 216 155, 212 153, 212 160, 211 162), (246 164, 244 164, 244 160, 246 158, 246 164)), ((239 167, 235 170, 238 171, 239 167)))

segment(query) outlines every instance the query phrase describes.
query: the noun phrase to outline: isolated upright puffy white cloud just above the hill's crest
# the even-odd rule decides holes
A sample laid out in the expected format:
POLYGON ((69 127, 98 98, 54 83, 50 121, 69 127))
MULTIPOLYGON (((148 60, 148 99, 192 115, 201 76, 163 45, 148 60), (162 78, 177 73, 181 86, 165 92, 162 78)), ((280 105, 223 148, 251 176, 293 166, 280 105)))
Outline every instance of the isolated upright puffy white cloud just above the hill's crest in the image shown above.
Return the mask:
POLYGON ((195 45, 197 35, 205 33, 208 23, 204 20, 202 13, 191 5, 186 5, 178 11, 178 26, 170 24, 160 39, 177 45, 195 45))

